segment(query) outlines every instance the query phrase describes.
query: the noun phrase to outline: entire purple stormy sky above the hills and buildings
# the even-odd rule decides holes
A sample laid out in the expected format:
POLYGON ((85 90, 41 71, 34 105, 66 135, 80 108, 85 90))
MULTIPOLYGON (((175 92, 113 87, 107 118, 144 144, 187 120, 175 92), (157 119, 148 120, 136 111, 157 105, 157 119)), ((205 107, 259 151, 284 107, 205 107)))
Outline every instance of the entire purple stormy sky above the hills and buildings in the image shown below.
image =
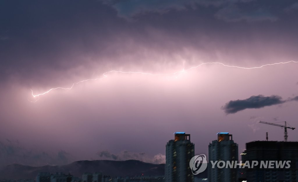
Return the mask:
MULTIPOLYGON (((0 2, 0 163, 164 163, 173 133, 207 154, 298 127, 298 3, 279 0, 0 2), (259 96, 260 95, 260 96, 259 96), (238 100, 238 101, 237 101, 238 100), (231 102, 230 102, 231 101, 231 102), (281 123, 282 124, 282 123, 281 123)), ((288 140, 298 140, 297 130, 288 140)))

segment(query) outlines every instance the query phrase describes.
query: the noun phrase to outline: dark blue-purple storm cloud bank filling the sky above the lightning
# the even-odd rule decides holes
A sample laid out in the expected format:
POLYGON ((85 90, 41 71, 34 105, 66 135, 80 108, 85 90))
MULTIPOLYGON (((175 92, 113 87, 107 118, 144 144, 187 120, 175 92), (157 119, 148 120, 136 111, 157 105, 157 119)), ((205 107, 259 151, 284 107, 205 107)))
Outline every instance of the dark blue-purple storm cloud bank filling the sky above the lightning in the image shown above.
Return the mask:
MULTIPOLYGON (((92 72, 98 71, 97 67, 105 68, 113 62, 117 66, 127 65, 127 60, 126 63, 122 62, 125 60, 123 57, 140 55, 144 50, 151 49, 153 53, 160 51, 167 55, 173 52, 180 54, 180 45, 183 45, 202 50, 210 57, 215 51, 226 49, 233 38, 241 41, 251 34, 260 34, 265 40, 271 40, 277 36, 265 37, 262 32, 268 36, 275 30, 277 35, 284 32, 284 35, 291 36, 288 31, 293 31, 295 36, 297 28, 287 25, 278 28, 273 24, 277 18, 286 19, 284 22, 291 19, 296 21, 294 16, 280 16, 276 8, 277 5, 285 8, 293 4, 292 1, 279 4, 250 0, 4 0, 0 2, 0 6, 5 7, 0 11, 1 81, 13 77, 26 80, 25 85, 39 85, 46 84, 45 80, 50 82, 49 78, 58 80, 60 74, 66 71, 68 74, 63 77, 72 79, 70 74, 83 72, 81 70, 88 70, 83 76, 89 78, 92 72), (121 18, 131 16, 134 22, 121 18), (218 19, 237 23, 266 20, 272 23, 272 27, 266 26, 263 30, 258 26, 257 32, 253 32, 252 24, 233 26, 231 29, 218 19), (210 42, 224 42, 224 45, 210 45, 210 42), (125 53, 128 56, 123 55, 125 53), (28 83, 29 80, 32 83, 28 83)), ((289 25, 295 26, 292 22, 289 25)), ((297 45, 296 39, 291 38, 290 42, 285 38, 283 40, 287 45, 294 42, 291 47, 297 45)), ((249 42, 245 41, 245 46, 249 42)), ((241 47, 238 42, 234 44, 241 47)), ((291 49, 285 47, 285 50, 291 49)), ((288 52, 280 54, 292 55, 288 52)), ((134 64, 138 64, 137 61, 134 64)))

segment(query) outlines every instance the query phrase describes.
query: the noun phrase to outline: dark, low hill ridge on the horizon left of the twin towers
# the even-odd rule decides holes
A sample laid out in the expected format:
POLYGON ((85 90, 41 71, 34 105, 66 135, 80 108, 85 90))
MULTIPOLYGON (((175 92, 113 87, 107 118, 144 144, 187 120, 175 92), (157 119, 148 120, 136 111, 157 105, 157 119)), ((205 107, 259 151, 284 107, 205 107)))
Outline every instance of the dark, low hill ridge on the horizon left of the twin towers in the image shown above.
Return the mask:
POLYGON ((0 170, 0 179, 35 179, 39 172, 63 172, 82 177, 84 172, 102 172, 103 175, 110 176, 163 176, 165 164, 151 164, 137 160, 127 161, 75 161, 61 166, 41 166, 32 167, 21 164, 11 164, 0 170))

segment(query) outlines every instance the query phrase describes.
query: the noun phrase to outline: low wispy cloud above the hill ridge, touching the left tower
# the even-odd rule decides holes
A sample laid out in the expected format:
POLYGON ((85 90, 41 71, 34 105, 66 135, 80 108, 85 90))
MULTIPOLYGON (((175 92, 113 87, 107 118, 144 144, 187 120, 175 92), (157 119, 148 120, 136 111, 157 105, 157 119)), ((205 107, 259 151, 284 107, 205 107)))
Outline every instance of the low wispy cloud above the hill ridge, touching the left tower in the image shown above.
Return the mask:
POLYGON ((113 154, 107 150, 104 150, 104 151, 98 152, 97 155, 99 155, 99 157, 102 159, 112 159, 115 161, 125 161, 125 160, 134 159, 134 160, 149 162, 153 164, 165 163, 165 155, 162 155, 160 153, 157 155, 154 155, 154 157, 150 157, 144 152, 134 153, 134 152, 125 150, 120 152, 119 154, 113 154))

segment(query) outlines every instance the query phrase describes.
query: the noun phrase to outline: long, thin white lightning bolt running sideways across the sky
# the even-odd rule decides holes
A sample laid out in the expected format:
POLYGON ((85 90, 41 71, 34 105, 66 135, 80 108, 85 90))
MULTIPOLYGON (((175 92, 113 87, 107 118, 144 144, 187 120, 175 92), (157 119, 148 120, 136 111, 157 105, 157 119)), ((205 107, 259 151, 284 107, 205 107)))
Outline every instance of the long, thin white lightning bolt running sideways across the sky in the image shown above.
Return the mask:
POLYGON ((95 78, 95 79, 87 79, 87 80, 82 80, 82 81, 79 81, 79 82, 75 82, 69 88, 63 88, 63 87, 51 88, 51 89, 49 89, 48 91, 46 91, 44 93, 36 94, 36 95, 33 94, 33 90, 31 90, 31 95, 34 98, 38 98, 38 99, 35 100, 35 101, 30 101, 30 102, 37 102, 39 100, 39 96, 45 95, 45 94, 47 94, 47 93, 49 93, 50 91, 53 91, 53 90, 57 90, 57 89, 71 90, 75 85, 77 85, 79 83, 82 83, 82 82, 102 80, 102 79, 104 79, 104 78, 107 77, 107 74, 112 73, 112 72, 123 73, 123 74, 127 74, 128 73, 128 74, 145 74, 145 75, 151 75, 151 76, 159 76, 159 75, 175 75, 175 74, 183 73, 183 72, 189 71, 191 69, 196 69, 196 68, 198 68, 200 66, 203 66, 205 64, 219 64, 219 65, 226 66, 226 67, 233 67, 233 68, 240 68, 240 69, 257 69, 257 68, 262 68, 264 66, 272 66, 272 65, 287 64, 287 63, 298 63, 298 61, 288 61, 288 62, 265 64, 265 65, 262 65, 262 66, 251 67, 251 68, 240 67, 240 66, 230 66, 230 65, 226 65, 224 63, 212 62, 212 63, 201 63, 198 66, 194 66, 194 67, 191 67, 191 68, 188 68, 188 69, 185 69, 185 65, 184 65, 184 62, 183 62, 183 69, 181 71, 176 71, 176 72, 173 72, 173 73, 160 73, 160 74, 144 73, 144 72, 139 72, 139 71, 134 72, 134 71, 116 71, 116 70, 111 70, 111 71, 107 71, 107 72, 103 73, 103 76, 102 77, 95 78))

